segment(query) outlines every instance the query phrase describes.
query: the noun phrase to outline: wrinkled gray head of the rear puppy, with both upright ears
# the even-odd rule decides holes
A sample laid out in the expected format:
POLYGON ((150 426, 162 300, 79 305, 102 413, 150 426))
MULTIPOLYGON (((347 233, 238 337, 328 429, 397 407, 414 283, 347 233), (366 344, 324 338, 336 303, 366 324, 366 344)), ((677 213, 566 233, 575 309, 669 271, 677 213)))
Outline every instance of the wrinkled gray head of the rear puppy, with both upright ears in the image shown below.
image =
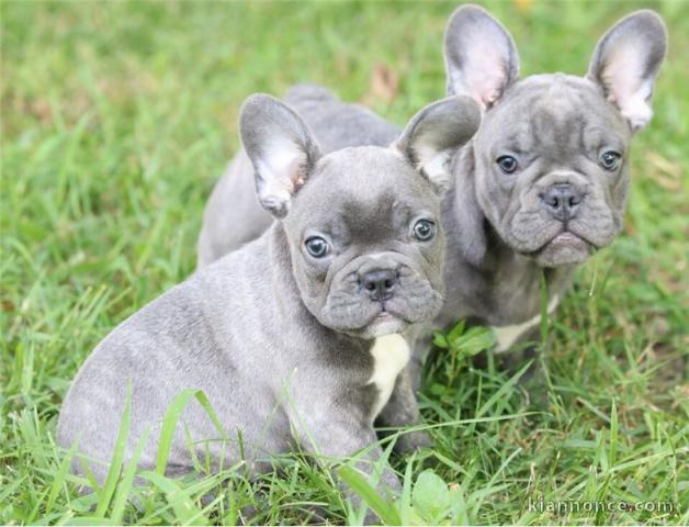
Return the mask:
POLYGON ((485 111, 474 155, 456 166, 466 200, 460 214, 473 225, 460 240, 470 261, 485 254, 484 218, 543 267, 580 262, 612 243, 622 228, 630 139, 651 119, 666 41, 658 15, 639 11, 600 40, 586 77, 519 80, 517 48, 499 22, 474 5, 454 13, 448 90, 485 111))

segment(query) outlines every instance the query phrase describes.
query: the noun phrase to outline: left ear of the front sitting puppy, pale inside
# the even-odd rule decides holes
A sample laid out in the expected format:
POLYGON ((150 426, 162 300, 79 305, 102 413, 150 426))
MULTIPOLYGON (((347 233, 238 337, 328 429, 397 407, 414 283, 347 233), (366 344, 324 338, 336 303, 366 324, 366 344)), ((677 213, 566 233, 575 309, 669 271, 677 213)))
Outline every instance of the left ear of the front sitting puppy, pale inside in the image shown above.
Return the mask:
POLYGON ((261 206, 284 217, 320 156, 316 139, 292 109, 262 93, 249 97, 241 106, 239 133, 253 165, 261 206))

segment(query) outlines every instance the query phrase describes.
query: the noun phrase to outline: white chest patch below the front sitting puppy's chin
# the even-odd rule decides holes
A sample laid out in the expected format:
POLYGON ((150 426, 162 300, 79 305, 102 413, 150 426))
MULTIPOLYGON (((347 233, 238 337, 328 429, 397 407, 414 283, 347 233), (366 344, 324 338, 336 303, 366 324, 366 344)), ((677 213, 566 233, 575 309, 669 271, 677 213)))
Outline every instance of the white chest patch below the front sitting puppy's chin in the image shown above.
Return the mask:
POLYGON ((377 337, 371 348, 373 356, 373 375, 369 384, 375 384, 379 399, 373 406, 373 418, 387 403, 397 375, 409 362, 409 345, 402 335, 392 334, 377 337))

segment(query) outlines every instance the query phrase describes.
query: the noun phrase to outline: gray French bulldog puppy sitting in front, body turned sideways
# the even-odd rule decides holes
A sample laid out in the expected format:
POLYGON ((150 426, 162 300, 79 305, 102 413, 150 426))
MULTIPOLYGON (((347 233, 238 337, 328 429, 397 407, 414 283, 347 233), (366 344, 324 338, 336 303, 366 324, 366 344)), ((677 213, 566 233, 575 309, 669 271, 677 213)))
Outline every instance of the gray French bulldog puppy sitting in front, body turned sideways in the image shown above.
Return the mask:
MULTIPOLYGON (((442 306, 447 160, 479 117, 471 98, 451 97, 421 110, 393 146, 324 155, 292 109, 250 97, 241 139, 259 202, 280 221, 99 344, 64 402, 59 444, 78 441, 82 455, 102 461, 91 464, 102 483, 131 385, 123 462, 150 427, 138 464, 151 469, 166 408, 180 391, 199 389, 230 441, 217 440, 194 401, 176 430, 169 474, 190 472, 194 457, 208 455, 213 467, 245 460, 262 470, 295 441, 336 458, 368 449, 362 470, 370 471, 381 455, 373 422, 395 386, 407 394, 389 423, 418 417, 400 373, 409 359, 404 335, 442 306), (231 440, 238 434, 241 451, 231 440)), ((399 489, 389 468, 382 482, 399 489)))

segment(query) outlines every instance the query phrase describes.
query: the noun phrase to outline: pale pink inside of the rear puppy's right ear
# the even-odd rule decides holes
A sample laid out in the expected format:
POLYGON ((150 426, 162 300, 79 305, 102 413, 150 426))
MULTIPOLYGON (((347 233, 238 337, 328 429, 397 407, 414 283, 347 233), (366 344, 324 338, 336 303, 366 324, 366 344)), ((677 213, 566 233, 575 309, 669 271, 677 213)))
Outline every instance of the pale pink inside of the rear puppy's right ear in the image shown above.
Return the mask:
POLYGON ((608 100, 617 104, 633 130, 648 124, 653 114, 648 104, 653 79, 643 76, 643 64, 640 60, 643 56, 644 52, 637 43, 618 45, 606 58, 601 72, 608 100))

